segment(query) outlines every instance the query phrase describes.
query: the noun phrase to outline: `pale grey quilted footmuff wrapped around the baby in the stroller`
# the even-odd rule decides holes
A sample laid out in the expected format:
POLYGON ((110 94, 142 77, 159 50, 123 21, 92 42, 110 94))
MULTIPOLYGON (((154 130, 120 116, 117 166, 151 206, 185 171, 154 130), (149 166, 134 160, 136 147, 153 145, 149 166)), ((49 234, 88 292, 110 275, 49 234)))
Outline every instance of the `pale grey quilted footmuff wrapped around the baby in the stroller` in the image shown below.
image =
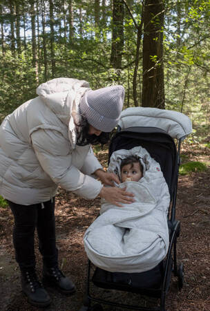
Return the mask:
POLYGON ((144 167, 138 182, 128 181, 119 187, 132 192, 135 202, 117 207, 102 200, 100 216, 84 234, 84 247, 90 261, 110 272, 144 272, 164 259, 169 247, 167 212, 169 189, 160 164, 146 149, 115 151, 108 171, 120 176, 120 162, 137 155, 144 167))

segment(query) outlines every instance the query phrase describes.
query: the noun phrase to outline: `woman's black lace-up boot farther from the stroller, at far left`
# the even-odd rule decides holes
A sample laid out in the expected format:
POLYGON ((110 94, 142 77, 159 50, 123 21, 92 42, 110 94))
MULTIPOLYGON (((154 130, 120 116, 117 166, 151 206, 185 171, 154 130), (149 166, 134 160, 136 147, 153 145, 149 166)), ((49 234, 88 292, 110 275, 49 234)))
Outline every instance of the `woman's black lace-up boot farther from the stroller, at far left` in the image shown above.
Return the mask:
POLYGON ((37 279, 34 269, 21 271, 21 286, 24 294, 28 297, 28 302, 32 305, 37 307, 50 305, 50 296, 37 279))

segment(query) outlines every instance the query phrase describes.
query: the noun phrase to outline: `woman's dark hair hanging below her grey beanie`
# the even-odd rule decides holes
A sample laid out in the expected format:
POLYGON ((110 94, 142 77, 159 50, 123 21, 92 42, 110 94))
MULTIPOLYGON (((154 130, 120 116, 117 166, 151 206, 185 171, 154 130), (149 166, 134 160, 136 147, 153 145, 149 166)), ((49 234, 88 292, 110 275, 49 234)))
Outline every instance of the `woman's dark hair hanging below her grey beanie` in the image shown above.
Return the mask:
POLYGON ((86 144, 106 144, 110 138, 110 133, 102 132, 99 136, 89 135, 89 124, 86 117, 79 115, 79 121, 75 122, 77 133, 77 145, 86 146, 86 144))

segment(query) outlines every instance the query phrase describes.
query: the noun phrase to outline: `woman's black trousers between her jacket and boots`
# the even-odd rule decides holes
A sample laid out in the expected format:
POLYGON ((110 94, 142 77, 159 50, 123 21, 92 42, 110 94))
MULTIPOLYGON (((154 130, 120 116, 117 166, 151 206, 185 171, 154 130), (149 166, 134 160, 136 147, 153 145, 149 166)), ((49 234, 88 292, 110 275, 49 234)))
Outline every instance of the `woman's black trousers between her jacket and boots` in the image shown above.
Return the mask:
POLYGON ((19 205, 8 201, 15 217, 13 244, 15 258, 21 270, 35 268, 35 229, 39 237, 39 251, 46 267, 58 265, 55 238, 55 198, 34 205, 19 205))

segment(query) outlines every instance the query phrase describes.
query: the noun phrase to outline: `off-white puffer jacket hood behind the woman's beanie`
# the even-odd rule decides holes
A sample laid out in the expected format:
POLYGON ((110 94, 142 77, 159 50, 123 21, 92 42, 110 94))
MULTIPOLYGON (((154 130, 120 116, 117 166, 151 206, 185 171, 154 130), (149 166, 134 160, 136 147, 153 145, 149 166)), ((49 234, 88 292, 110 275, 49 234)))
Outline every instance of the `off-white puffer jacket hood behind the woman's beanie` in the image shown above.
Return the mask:
POLYGON ((79 113, 79 102, 90 89, 88 82, 59 77, 45 82, 37 88, 37 95, 48 108, 68 126, 68 135, 73 147, 76 143, 74 120, 79 113))

